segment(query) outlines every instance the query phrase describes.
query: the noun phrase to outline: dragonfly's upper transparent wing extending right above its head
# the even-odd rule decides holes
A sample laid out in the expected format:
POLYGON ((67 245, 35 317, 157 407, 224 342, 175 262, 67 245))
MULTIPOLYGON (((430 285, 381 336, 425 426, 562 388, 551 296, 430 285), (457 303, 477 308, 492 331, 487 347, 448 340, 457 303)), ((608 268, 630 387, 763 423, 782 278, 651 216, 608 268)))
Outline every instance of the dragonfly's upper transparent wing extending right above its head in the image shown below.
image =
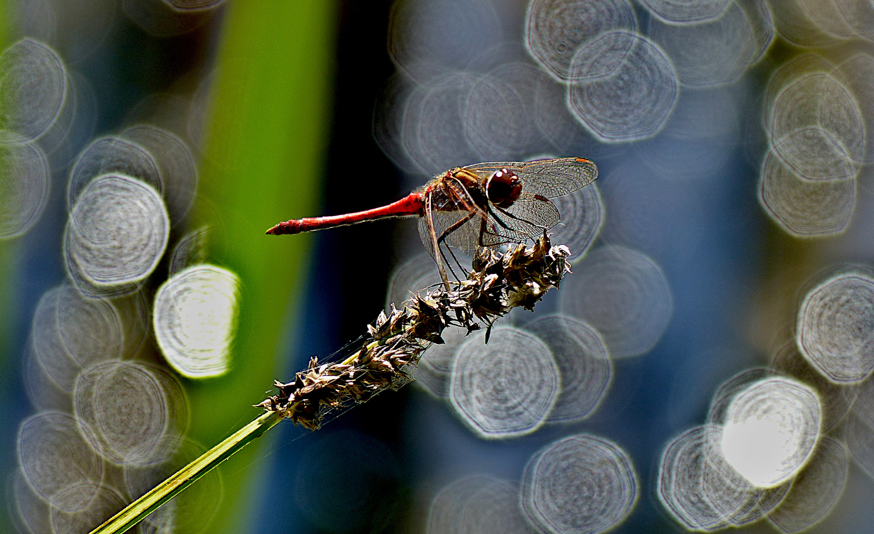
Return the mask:
POLYGON ((585 188, 598 177, 598 167, 584 158, 558 158, 538 161, 493 161, 469 165, 465 169, 483 177, 502 168, 516 173, 522 190, 546 198, 568 195, 585 188))

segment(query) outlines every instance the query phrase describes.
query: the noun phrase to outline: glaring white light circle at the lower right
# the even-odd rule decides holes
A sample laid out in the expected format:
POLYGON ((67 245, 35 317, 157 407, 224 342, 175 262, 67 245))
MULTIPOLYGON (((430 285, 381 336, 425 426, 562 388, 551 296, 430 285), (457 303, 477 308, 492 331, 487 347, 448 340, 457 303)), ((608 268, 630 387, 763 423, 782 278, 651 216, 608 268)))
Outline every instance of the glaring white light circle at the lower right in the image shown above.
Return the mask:
POLYGON ((819 397, 809 387, 781 377, 759 380, 728 408, 723 455, 750 483, 772 488, 808 461, 821 419, 819 397))

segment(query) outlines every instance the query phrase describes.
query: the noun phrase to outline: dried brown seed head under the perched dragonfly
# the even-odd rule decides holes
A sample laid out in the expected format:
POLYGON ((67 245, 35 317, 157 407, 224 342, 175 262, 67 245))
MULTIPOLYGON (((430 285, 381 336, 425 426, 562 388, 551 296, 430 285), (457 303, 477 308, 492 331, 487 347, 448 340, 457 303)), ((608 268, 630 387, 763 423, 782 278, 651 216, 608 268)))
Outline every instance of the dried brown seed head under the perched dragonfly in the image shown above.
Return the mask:
POLYGON ((432 343, 443 343, 440 334, 447 326, 468 333, 482 325, 490 329, 516 306, 533 309, 571 270, 566 262, 570 254, 565 245, 551 246, 546 234, 530 248, 510 245, 503 254, 481 249, 466 280, 450 284, 449 290, 440 285, 424 297, 415 295, 400 310, 392 305, 388 315, 380 312, 349 358, 321 365, 310 359, 294 381, 275 381, 279 394, 257 406, 316 430, 330 410, 369 401, 412 381, 421 353, 432 343))

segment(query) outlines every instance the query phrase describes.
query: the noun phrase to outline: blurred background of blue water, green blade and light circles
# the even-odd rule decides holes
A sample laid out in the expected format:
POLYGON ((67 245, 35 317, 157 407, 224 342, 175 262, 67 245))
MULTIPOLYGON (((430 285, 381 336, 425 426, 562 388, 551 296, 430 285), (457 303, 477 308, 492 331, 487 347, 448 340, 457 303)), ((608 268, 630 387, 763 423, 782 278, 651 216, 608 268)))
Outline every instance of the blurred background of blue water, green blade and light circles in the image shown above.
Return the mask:
POLYGON ((439 280, 411 220, 275 223, 565 156, 560 291, 137 529, 874 531, 871 0, 2 0, 0 44, 0 531, 90 531, 439 280), (708 448, 757 392, 764 482, 708 448))

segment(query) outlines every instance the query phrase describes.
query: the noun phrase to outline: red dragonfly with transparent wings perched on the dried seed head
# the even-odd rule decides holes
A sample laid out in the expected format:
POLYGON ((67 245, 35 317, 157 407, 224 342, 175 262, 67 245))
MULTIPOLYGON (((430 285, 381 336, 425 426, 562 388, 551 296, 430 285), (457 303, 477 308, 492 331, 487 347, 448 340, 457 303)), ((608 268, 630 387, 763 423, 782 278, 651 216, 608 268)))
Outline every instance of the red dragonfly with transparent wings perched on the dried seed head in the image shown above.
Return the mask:
POLYGON ((341 216, 293 219, 268 229, 267 234, 299 234, 418 216, 422 243, 448 287, 443 262, 449 262, 441 247, 453 257, 448 247, 473 257, 480 247, 524 243, 558 223, 558 209, 549 199, 584 188, 597 177, 598 168, 583 158, 477 163, 449 169, 387 206, 341 216))

